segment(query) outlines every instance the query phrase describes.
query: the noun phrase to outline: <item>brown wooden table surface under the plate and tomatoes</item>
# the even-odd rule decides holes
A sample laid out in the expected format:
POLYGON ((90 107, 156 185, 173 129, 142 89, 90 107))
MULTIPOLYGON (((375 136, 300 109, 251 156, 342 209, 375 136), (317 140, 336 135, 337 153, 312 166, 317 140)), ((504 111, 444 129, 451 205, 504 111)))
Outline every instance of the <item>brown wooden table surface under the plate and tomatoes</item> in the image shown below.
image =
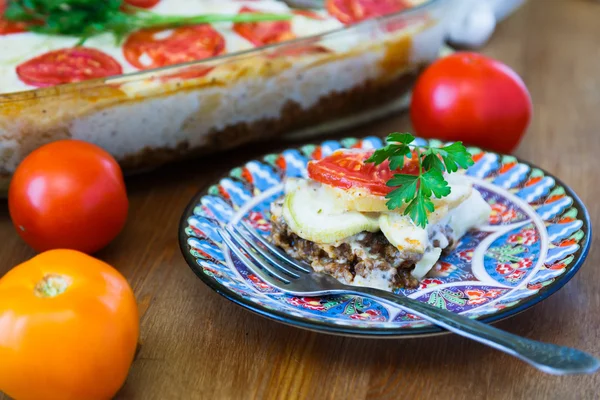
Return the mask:
MULTIPOLYGON (((535 116, 516 154, 571 185, 598 225, 599 15, 596 1, 530 0, 482 50, 512 66, 534 100, 535 116)), ((410 129, 405 115, 344 135, 402 129, 410 129)), ((179 217, 197 190, 263 151, 253 146, 129 180, 127 227, 99 254, 129 279, 141 310, 141 349, 119 398, 599 398, 600 374, 544 375, 455 335, 370 340, 312 333, 212 292, 179 252, 179 217)), ((33 252, 13 231, 5 203, 0 213, 1 275, 33 252)), ((600 355, 598 245, 595 239, 562 290, 497 326, 600 355)))

